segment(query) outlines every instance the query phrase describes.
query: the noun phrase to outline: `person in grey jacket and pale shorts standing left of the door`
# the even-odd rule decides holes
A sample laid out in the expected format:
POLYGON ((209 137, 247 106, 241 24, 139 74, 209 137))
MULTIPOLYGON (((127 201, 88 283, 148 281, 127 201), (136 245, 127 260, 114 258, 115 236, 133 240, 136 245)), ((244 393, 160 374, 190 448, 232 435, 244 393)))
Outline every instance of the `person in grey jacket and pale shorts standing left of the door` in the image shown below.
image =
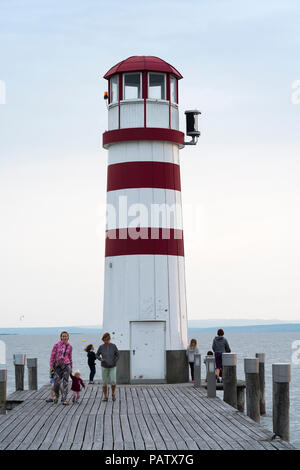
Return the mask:
POLYGON ((102 371, 102 387, 104 398, 103 401, 108 401, 107 398, 107 384, 110 378, 112 401, 116 400, 116 385, 117 385, 117 362, 120 357, 117 346, 110 342, 110 334, 104 333, 102 336, 103 344, 98 348, 96 357, 101 361, 102 371))

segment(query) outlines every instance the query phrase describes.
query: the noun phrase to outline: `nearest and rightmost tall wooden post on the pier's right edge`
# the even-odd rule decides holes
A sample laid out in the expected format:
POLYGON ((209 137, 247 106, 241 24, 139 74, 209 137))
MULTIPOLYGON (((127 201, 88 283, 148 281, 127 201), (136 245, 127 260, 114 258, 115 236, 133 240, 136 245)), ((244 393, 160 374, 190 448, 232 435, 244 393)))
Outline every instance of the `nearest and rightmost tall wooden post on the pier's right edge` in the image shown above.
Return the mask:
POLYGON ((273 364, 273 432, 290 440, 290 364, 273 364))

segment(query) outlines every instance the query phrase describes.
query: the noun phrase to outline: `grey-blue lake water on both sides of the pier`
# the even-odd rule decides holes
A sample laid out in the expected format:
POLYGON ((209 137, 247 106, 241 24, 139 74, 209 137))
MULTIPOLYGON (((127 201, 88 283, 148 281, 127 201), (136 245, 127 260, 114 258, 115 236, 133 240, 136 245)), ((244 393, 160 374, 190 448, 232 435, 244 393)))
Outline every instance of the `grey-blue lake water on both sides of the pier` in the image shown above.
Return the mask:
MULTIPOLYGON (((212 336, 210 333, 200 333, 194 336, 198 341, 202 357, 211 349, 212 336)), ((291 362, 292 342, 300 339, 299 333, 230 333, 227 336, 233 352, 238 354, 238 378, 244 379, 243 358, 254 357, 256 352, 266 353, 266 405, 267 416, 263 417, 262 424, 272 430, 272 363, 291 362)), ((56 335, 3 335, 0 340, 6 344, 6 359, 8 369, 8 393, 14 391, 13 354, 26 353, 27 357, 37 357, 39 386, 49 381, 49 357, 53 344, 58 341, 56 335)), ((87 365, 84 347, 92 343, 95 349, 100 344, 100 337, 96 334, 73 334, 70 343, 73 346, 73 369, 80 369, 82 377, 87 378, 89 368, 87 365), (83 341, 85 340, 85 342, 83 341)), ((202 376, 205 370, 203 366, 202 376)), ((27 387, 27 374, 25 374, 25 388, 27 387)), ((100 378, 100 365, 97 366, 96 379, 100 378)), ((300 365, 292 364, 291 381, 291 443, 300 448, 300 394, 297 393, 297 384, 300 382, 300 365)), ((221 395, 222 396, 222 395, 221 395)))

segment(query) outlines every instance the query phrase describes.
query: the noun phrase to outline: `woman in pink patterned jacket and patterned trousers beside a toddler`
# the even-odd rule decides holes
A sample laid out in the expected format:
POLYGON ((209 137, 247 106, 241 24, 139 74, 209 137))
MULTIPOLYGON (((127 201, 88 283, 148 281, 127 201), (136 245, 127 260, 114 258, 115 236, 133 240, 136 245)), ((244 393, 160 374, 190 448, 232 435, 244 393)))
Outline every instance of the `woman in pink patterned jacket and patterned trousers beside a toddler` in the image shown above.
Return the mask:
POLYGON ((58 402, 59 389, 62 386, 63 405, 68 405, 68 382, 70 373, 72 373, 72 346, 69 343, 69 333, 62 331, 60 341, 55 343, 50 357, 50 372, 54 372, 54 403, 58 402))

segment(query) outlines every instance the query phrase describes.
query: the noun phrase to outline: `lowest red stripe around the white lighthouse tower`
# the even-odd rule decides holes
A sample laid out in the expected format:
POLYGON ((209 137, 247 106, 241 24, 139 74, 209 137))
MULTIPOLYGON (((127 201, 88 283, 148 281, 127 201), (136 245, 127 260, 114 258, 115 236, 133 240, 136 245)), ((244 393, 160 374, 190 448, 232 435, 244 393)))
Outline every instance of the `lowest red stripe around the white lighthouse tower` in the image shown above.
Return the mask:
POLYGON ((183 231, 162 228, 124 228, 106 231, 105 256, 184 256, 183 231))

